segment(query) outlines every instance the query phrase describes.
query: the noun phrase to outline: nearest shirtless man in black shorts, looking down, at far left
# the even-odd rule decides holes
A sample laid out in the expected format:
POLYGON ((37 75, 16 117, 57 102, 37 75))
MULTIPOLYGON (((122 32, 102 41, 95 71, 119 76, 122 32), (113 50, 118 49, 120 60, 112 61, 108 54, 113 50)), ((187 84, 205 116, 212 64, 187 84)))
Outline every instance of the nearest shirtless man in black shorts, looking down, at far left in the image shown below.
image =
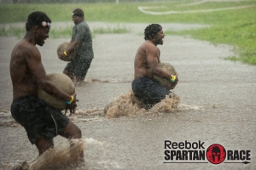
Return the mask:
MULTIPOLYGON (((61 111, 38 99, 37 89, 67 102, 67 109, 74 113, 76 94, 70 96, 56 88, 46 77, 41 54, 36 45, 43 46, 49 37, 51 20, 43 12, 33 12, 26 21, 26 35, 13 49, 9 71, 13 84, 11 114, 36 144, 39 156, 54 146, 53 138, 61 135, 67 139, 80 139, 81 130, 61 111)), ((81 153, 83 156, 83 153, 81 153)))

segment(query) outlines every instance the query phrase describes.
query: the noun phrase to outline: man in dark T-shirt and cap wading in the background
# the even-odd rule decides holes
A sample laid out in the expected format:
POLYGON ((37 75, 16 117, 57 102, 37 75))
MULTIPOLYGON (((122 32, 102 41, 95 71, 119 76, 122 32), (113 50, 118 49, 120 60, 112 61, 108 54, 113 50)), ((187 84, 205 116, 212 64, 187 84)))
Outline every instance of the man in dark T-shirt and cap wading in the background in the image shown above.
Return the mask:
MULTIPOLYGON (((68 55, 71 52, 75 53, 73 60, 67 63, 63 73, 77 82, 84 81, 86 73, 90 68, 91 60, 94 58, 92 49, 92 38, 90 27, 84 21, 84 12, 80 8, 73 10, 72 14, 73 36, 71 46, 61 55, 68 55)), ((64 58, 65 56, 62 56, 64 58)))

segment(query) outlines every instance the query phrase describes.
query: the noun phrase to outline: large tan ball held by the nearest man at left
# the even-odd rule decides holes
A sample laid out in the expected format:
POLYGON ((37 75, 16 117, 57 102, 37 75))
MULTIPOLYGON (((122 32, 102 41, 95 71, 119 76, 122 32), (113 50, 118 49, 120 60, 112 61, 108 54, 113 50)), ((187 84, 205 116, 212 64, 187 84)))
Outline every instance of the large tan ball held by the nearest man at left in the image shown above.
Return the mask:
MULTIPOLYGON (((47 75, 49 81, 52 82, 57 88, 60 88, 67 94, 75 94, 75 86, 72 80, 64 73, 50 73, 47 75)), ((38 88, 38 98, 43 99, 48 105, 55 107, 55 109, 63 111, 66 109, 66 102, 57 99, 54 96, 47 94, 41 88, 38 88)))

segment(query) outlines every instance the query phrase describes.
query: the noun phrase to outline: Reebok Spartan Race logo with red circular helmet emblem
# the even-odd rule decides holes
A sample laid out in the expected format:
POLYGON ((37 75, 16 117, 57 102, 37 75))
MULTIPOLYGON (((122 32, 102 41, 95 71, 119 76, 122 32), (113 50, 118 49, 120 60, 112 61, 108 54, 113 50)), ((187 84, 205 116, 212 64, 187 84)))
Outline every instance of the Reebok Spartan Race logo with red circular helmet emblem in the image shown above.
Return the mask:
POLYGON ((164 163, 250 163, 250 150, 225 150, 221 144, 212 144, 207 149, 205 142, 172 142, 165 140, 164 163))

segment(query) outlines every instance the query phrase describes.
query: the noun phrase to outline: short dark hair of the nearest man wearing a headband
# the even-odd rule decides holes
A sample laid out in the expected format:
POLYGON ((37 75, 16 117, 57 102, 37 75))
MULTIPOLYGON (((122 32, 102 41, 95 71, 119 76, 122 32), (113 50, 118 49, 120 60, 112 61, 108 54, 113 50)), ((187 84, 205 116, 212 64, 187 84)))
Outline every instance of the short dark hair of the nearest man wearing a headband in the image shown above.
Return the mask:
POLYGON ((46 26, 49 26, 49 23, 51 23, 47 14, 41 11, 32 12, 26 20, 26 31, 30 31, 33 26, 44 26, 43 22, 46 23, 46 26))

